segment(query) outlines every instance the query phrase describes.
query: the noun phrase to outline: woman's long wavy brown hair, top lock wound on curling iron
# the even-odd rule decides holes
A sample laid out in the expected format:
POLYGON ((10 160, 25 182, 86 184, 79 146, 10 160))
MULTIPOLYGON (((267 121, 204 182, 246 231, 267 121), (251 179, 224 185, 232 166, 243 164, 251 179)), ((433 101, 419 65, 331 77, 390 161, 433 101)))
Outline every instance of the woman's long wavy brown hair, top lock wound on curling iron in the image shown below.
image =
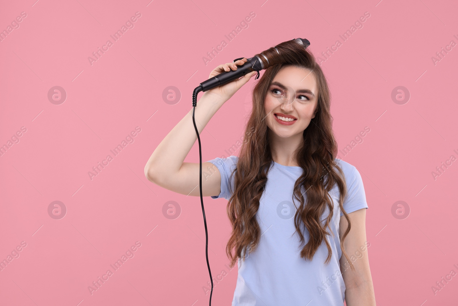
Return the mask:
MULTIPOLYGON (((259 200, 265 189, 267 173, 273 161, 268 128, 266 121, 263 120, 266 117, 264 100, 277 72, 288 65, 309 69, 315 76, 318 88, 316 115, 304 130, 304 141, 294 153, 297 163, 303 169, 303 174, 294 184, 292 200, 294 202, 295 197, 300 201, 300 206, 296 207, 294 225, 301 245, 305 243, 301 227, 305 226, 310 236, 309 241, 300 251, 300 256, 305 260, 312 260, 324 240, 328 250, 325 262, 328 264, 331 260, 332 250, 326 239, 326 235, 330 233, 326 228, 333 233, 330 228, 333 217, 333 200, 328 192, 334 184, 337 184, 340 190, 339 206, 349 224, 343 237, 340 238, 340 246, 343 255, 350 262, 343 244, 350 231, 350 219, 343 208, 346 185, 343 171, 334 161, 337 156, 337 143, 332 130, 333 119, 329 111, 331 96, 327 80, 308 48, 304 49, 293 40, 275 47, 256 55, 262 59, 267 69, 253 89, 253 108, 245 127, 245 135, 252 135, 243 142, 237 167, 231 174, 231 178, 235 176, 234 191, 229 199, 227 214, 232 225, 232 233, 226 246, 230 267, 234 266, 237 258, 245 259, 246 250, 250 252, 256 250, 261 237, 256 212, 259 209, 259 200), (274 49, 275 47, 278 52, 274 49), (267 57, 268 63, 264 61, 262 55, 267 57), (305 191, 302 190, 307 193, 306 202, 303 196, 305 191), (321 217, 326 207, 329 209, 329 214, 326 223, 322 224, 321 217), (242 256, 242 251, 245 256, 242 256)), ((351 262, 350 267, 354 269, 351 262)))

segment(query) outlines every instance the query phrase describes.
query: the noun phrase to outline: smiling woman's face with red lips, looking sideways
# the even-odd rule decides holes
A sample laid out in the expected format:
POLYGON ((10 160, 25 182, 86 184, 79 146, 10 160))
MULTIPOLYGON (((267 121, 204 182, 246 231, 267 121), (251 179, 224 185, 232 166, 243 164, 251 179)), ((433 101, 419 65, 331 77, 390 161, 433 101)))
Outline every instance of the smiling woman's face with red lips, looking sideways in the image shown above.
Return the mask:
POLYGON ((305 68, 283 67, 273 78, 264 100, 267 127, 282 138, 302 135, 315 117, 317 105, 318 92, 313 73, 305 68))

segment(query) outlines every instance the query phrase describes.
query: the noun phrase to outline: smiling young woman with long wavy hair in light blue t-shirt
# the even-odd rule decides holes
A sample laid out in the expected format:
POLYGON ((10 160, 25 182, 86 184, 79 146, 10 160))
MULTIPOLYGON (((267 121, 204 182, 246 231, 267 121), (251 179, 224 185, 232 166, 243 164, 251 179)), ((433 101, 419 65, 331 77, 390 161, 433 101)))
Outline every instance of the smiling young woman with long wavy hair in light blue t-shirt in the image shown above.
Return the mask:
MULTIPOLYGON (((202 196, 229 200, 226 253, 230 267, 238 263, 232 305, 375 306, 364 186, 358 170, 336 158, 326 78, 294 41, 258 56, 268 67, 254 88, 239 156, 202 164, 213 169, 203 174, 202 196)), ((219 65, 209 78, 245 62, 219 65)), ((199 133, 255 74, 202 95, 199 133)), ((199 163, 183 162, 196 138, 191 110, 149 158, 148 180, 200 196, 199 163)))

